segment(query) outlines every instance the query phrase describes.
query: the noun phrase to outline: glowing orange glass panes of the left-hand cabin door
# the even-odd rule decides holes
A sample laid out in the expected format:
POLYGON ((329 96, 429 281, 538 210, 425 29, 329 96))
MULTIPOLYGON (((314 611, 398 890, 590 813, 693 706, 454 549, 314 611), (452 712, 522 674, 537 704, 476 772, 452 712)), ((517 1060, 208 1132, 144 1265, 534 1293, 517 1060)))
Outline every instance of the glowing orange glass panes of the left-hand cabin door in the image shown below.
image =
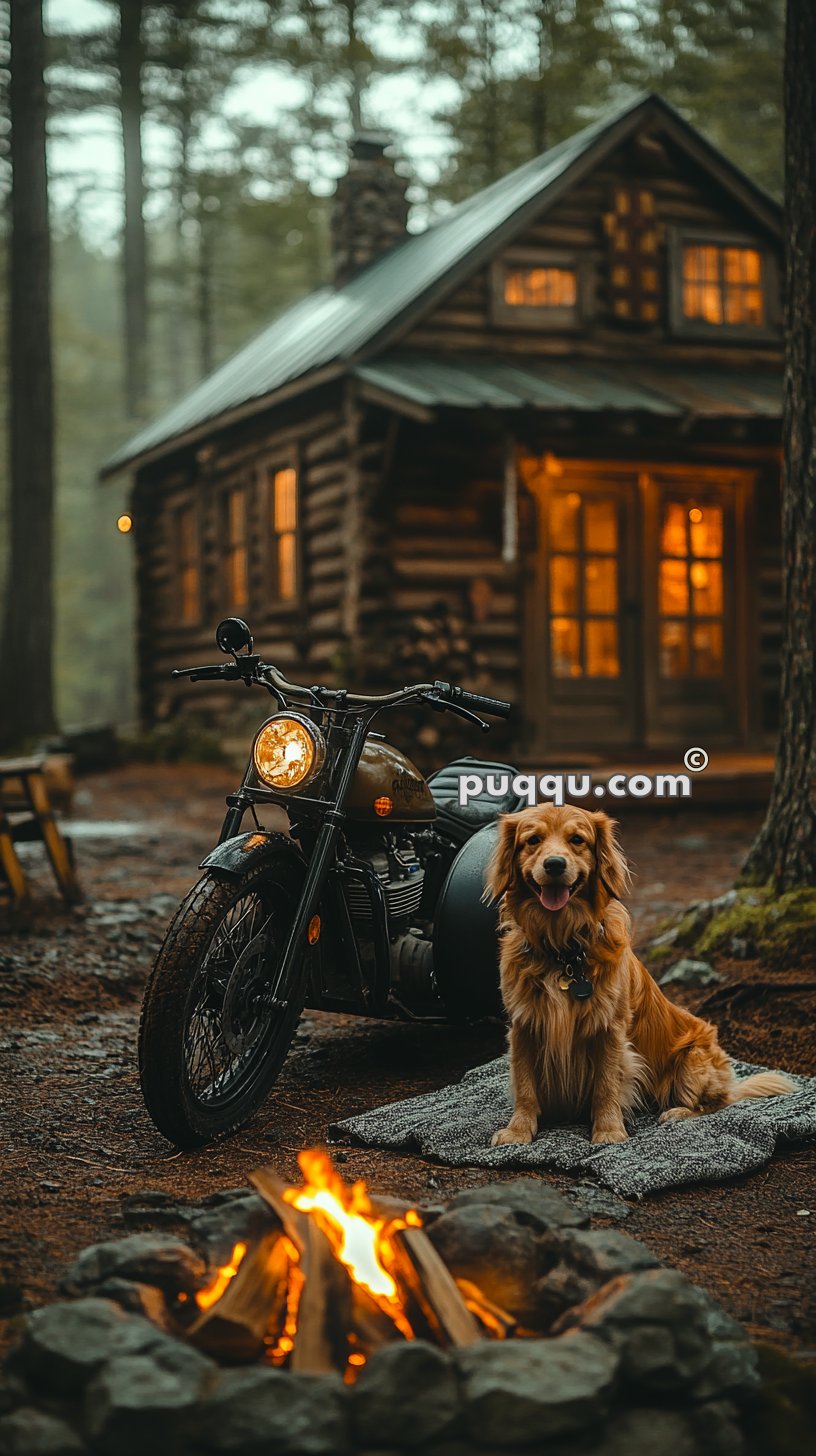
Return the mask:
POLYGON ((552 676, 619 677, 618 507, 555 491, 549 498, 552 676))

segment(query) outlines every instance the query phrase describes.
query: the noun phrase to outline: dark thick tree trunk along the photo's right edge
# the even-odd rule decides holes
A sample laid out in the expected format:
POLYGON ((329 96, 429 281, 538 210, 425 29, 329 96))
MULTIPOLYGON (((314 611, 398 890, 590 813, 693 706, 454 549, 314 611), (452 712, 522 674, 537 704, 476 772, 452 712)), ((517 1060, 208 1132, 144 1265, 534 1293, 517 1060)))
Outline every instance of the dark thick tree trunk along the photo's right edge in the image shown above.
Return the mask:
POLYGON ((788 0, 781 729, 743 879, 816 884, 816 7, 788 0))

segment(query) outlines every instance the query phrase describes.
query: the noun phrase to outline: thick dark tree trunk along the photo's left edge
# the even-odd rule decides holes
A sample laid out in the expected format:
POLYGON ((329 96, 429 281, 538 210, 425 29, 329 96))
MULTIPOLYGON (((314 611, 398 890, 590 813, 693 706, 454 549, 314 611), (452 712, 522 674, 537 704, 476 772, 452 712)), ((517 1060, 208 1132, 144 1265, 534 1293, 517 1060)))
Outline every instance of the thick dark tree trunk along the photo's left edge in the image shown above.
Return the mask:
POLYGON ((54 729, 54 402, 45 170, 45 36, 38 0, 10 3, 10 561, 0 638, 0 741, 54 729))

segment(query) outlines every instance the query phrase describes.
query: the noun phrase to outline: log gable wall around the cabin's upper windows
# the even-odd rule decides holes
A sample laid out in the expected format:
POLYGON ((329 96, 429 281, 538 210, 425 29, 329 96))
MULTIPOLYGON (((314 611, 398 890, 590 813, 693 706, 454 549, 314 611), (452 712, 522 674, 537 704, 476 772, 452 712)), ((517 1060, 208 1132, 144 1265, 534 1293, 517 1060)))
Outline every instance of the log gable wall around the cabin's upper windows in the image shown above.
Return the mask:
MULTIPOLYGON (((576 183, 561 201, 527 224, 507 252, 523 249, 574 253, 592 261, 592 310, 589 320, 577 329, 507 328, 495 322, 491 306, 493 264, 479 266, 471 278, 459 284, 425 319, 399 341, 408 349, 500 351, 516 355, 576 354, 584 358, 619 357, 637 360, 632 349, 646 351, 654 360, 739 360, 775 364, 780 347, 774 339, 726 341, 679 338, 669 328, 667 310, 667 230, 672 227, 701 227, 713 233, 740 233, 768 239, 756 220, 730 198, 717 191, 711 178, 697 173, 692 163, 669 144, 648 160, 638 138, 618 149, 605 163, 576 183), (606 236, 603 214, 609 211, 615 186, 637 182, 654 195, 656 221, 660 227, 657 266, 662 272, 663 304, 656 325, 635 326, 615 322, 606 301, 606 236)), ((778 245, 777 245, 778 250, 778 245)), ((530 256, 530 262, 535 258, 530 256)))

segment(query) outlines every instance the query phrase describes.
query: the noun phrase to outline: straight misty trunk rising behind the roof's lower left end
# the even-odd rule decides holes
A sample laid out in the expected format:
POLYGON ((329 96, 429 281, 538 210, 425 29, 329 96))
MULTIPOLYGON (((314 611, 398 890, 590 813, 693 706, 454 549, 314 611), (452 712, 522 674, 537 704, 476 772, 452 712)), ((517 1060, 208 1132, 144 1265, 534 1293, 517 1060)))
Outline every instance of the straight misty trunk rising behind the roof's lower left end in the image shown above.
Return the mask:
POLYGON ((141 0, 119 0, 119 105, 125 220, 122 282, 125 306, 125 405, 133 418, 147 406, 147 242, 141 162, 141 0))

